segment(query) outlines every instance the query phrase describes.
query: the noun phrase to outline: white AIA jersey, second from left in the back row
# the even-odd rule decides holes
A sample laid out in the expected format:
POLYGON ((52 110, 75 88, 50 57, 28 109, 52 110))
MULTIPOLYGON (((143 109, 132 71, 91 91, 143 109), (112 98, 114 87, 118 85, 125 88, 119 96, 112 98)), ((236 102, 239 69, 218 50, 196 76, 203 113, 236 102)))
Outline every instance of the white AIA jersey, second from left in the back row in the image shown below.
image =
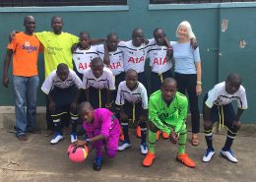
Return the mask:
MULTIPOLYGON (((99 57, 103 60, 104 58, 104 45, 97 45, 97 53, 99 57)), ((119 75, 121 72, 124 72, 123 68, 123 52, 118 47, 113 52, 108 52, 110 65, 107 66, 110 69, 114 76, 119 75)), ((106 65, 105 65, 106 66, 106 65)))

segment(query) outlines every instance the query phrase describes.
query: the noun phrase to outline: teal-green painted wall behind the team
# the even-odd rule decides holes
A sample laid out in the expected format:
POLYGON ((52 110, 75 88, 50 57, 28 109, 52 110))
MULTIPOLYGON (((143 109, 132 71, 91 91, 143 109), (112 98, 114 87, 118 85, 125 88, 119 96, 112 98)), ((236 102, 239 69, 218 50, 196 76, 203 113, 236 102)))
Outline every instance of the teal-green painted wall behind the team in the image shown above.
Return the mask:
MULTIPOLYGON (((152 10, 149 7, 149 0, 129 0, 128 10, 115 11, 98 11, 96 8, 57 8, 50 12, 51 9, 29 9, 27 12, 19 12, 21 10, 8 9, 9 12, 3 12, 0 9, 0 58, 3 61, 5 56, 6 45, 8 42, 8 34, 11 30, 24 30, 23 18, 27 15, 35 17, 37 22, 37 31, 51 30, 50 18, 58 15, 64 19, 64 31, 78 34, 82 30, 91 32, 92 37, 103 37, 110 31, 115 31, 121 39, 130 39, 131 31, 136 27, 141 27, 145 31, 148 38, 153 36, 153 30, 157 27, 163 28, 170 40, 175 40, 175 30, 177 25, 187 20, 191 23, 194 32, 199 41, 200 53, 203 67, 203 94, 200 96, 200 105, 202 105, 203 95, 211 89, 215 84, 224 80, 225 75, 229 72, 229 68, 234 68, 234 71, 241 73, 244 77, 244 86, 247 89, 250 109, 245 112, 242 120, 245 122, 256 121, 253 115, 253 100, 255 100, 255 84, 252 85, 252 74, 255 73, 251 68, 255 68, 252 60, 255 57, 252 47, 255 47, 253 40, 253 32, 256 25, 256 8, 255 4, 244 8, 220 8, 218 4, 190 6, 156 6, 159 10, 152 10), (94 11, 93 11, 94 9, 94 11), (151 9, 151 10, 149 10, 151 9), (12 12, 13 10, 13 12, 12 12), (59 11, 59 12, 56 12, 59 11), (70 10, 70 11, 69 11, 70 10), (88 11, 89 10, 89 11, 88 11), (18 11, 18 12, 14 12, 18 11), (45 11, 45 12, 39 12, 45 11), (237 16, 237 12, 239 16, 237 16), (227 16, 229 20, 230 31, 221 31, 222 18, 227 16), (246 20, 244 20, 246 19, 246 20), (4 24, 3 24, 4 23, 4 24), (249 32, 249 34, 247 34, 249 32), (225 34, 224 34, 225 33, 225 34), (237 48, 238 39, 246 38, 248 46, 244 49, 237 48), (233 40, 233 41, 231 41, 233 40), (236 41, 237 40, 237 41, 236 41), (219 56, 219 47, 223 48, 226 54, 223 57, 219 56), (228 49, 234 46, 235 49, 228 49), (233 54, 235 52, 235 55, 233 54), (239 55, 239 56, 238 56, 239 55), (227 60, 230 67, 220 69, 220 61, 227 60), (242 62, 242 63, 241 63, 242 62), (246 68, 246 70, 245 70, 246 68), (249 82, 250 81, 250 82, 249 82)), ((248 6, 248 5, 246 5, 248 6)), ((108 8, 111 9, 112 7, 108 8)), ((153 8, 154 9, 154 8, 153 8)), ((43 57, 39 56, 39 72, 41 82, 43 81, 43 57)), ((3 64, 0 64, 2 71, 3 64)), ((10 69, 11 75, 11 69, 10 69)), ((256 77, 254 77, 256 78, 256 77)), ((2 74, 1 74, 2 80, 2 74)), ((254 82, 255 83, 255 82, 254 82)), ((13 88, 8 90, 0 86, 0 105, 13 105, 14 93, 13 88)), ((38 105, 44 105, 45 96, 39 91, 38 105)), ((256 106, 256 105, 255 105, 256 106)))

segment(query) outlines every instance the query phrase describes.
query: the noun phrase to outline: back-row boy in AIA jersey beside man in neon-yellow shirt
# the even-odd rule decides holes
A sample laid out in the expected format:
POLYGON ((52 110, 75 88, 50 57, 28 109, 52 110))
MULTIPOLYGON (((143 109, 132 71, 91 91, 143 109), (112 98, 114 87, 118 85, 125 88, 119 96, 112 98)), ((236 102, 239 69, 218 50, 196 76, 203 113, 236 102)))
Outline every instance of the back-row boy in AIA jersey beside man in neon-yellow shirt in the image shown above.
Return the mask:
POLYGON ((79 34, 79 43, 72 54, 74 71, 83 79, 84 72, 91 67, 91 61, 98 57, 96 46, 91 45, 90 33, 82 31, 79 34))

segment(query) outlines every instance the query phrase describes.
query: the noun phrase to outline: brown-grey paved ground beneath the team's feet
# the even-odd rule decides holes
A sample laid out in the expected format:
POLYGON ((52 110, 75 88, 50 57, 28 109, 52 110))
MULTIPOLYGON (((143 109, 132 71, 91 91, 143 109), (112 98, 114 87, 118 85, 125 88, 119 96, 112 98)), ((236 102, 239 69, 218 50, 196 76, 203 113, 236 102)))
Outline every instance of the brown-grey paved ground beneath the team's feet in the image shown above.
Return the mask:
MULTIPOLYGON (((128 181, 212 181, 212 182, 251 182, 256 181, 256 135, 255 128, 248 127, 236 137, 233 151, 238 163, 231 163, 219 152, 224 145, 225 136, 214 135, 216 154, 209 163, 202 162, 206 149, 204 134, 199 134, 200 146, 187 144, 189 156, 195 160, 196 168, 188 168, 175 160, 177 146, 168 140, 160 139, 157 143, 154 164, 142 166, 144 155, 140 153, 140 140, 130 132, 132 148, 117 152, 115 158, 103 156, 100 171, 93 169, 95 152, 89 153, 83 163, 72 163, 67 156, 69 135, 57 145, 49 145, 50 137, 43 134, 30 134, 27 142, 20 142, 6 129, 0 130, 0 181, 34 182, 128 182, 128 181)), ((191 133, 188 133, 188 139, 191 133)))

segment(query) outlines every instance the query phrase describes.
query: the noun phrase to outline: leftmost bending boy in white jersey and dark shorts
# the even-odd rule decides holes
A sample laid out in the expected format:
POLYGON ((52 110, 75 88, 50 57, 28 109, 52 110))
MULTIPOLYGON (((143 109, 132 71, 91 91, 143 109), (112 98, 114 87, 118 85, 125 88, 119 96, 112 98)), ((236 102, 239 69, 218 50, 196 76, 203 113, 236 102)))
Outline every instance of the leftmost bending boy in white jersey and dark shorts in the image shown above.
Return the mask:
POLYGON ((79 91, 82 81, 73 70, 64 63, 60 63, 57 70, 51 72, 41 86, 41 91, 47 94, 50 115, 54 123, 54 137, 50 144, 57 144, 63 140, 61 132, 62 116, 70 112, 72 123, 71 143, 77 140, 77 121, 79 91))

